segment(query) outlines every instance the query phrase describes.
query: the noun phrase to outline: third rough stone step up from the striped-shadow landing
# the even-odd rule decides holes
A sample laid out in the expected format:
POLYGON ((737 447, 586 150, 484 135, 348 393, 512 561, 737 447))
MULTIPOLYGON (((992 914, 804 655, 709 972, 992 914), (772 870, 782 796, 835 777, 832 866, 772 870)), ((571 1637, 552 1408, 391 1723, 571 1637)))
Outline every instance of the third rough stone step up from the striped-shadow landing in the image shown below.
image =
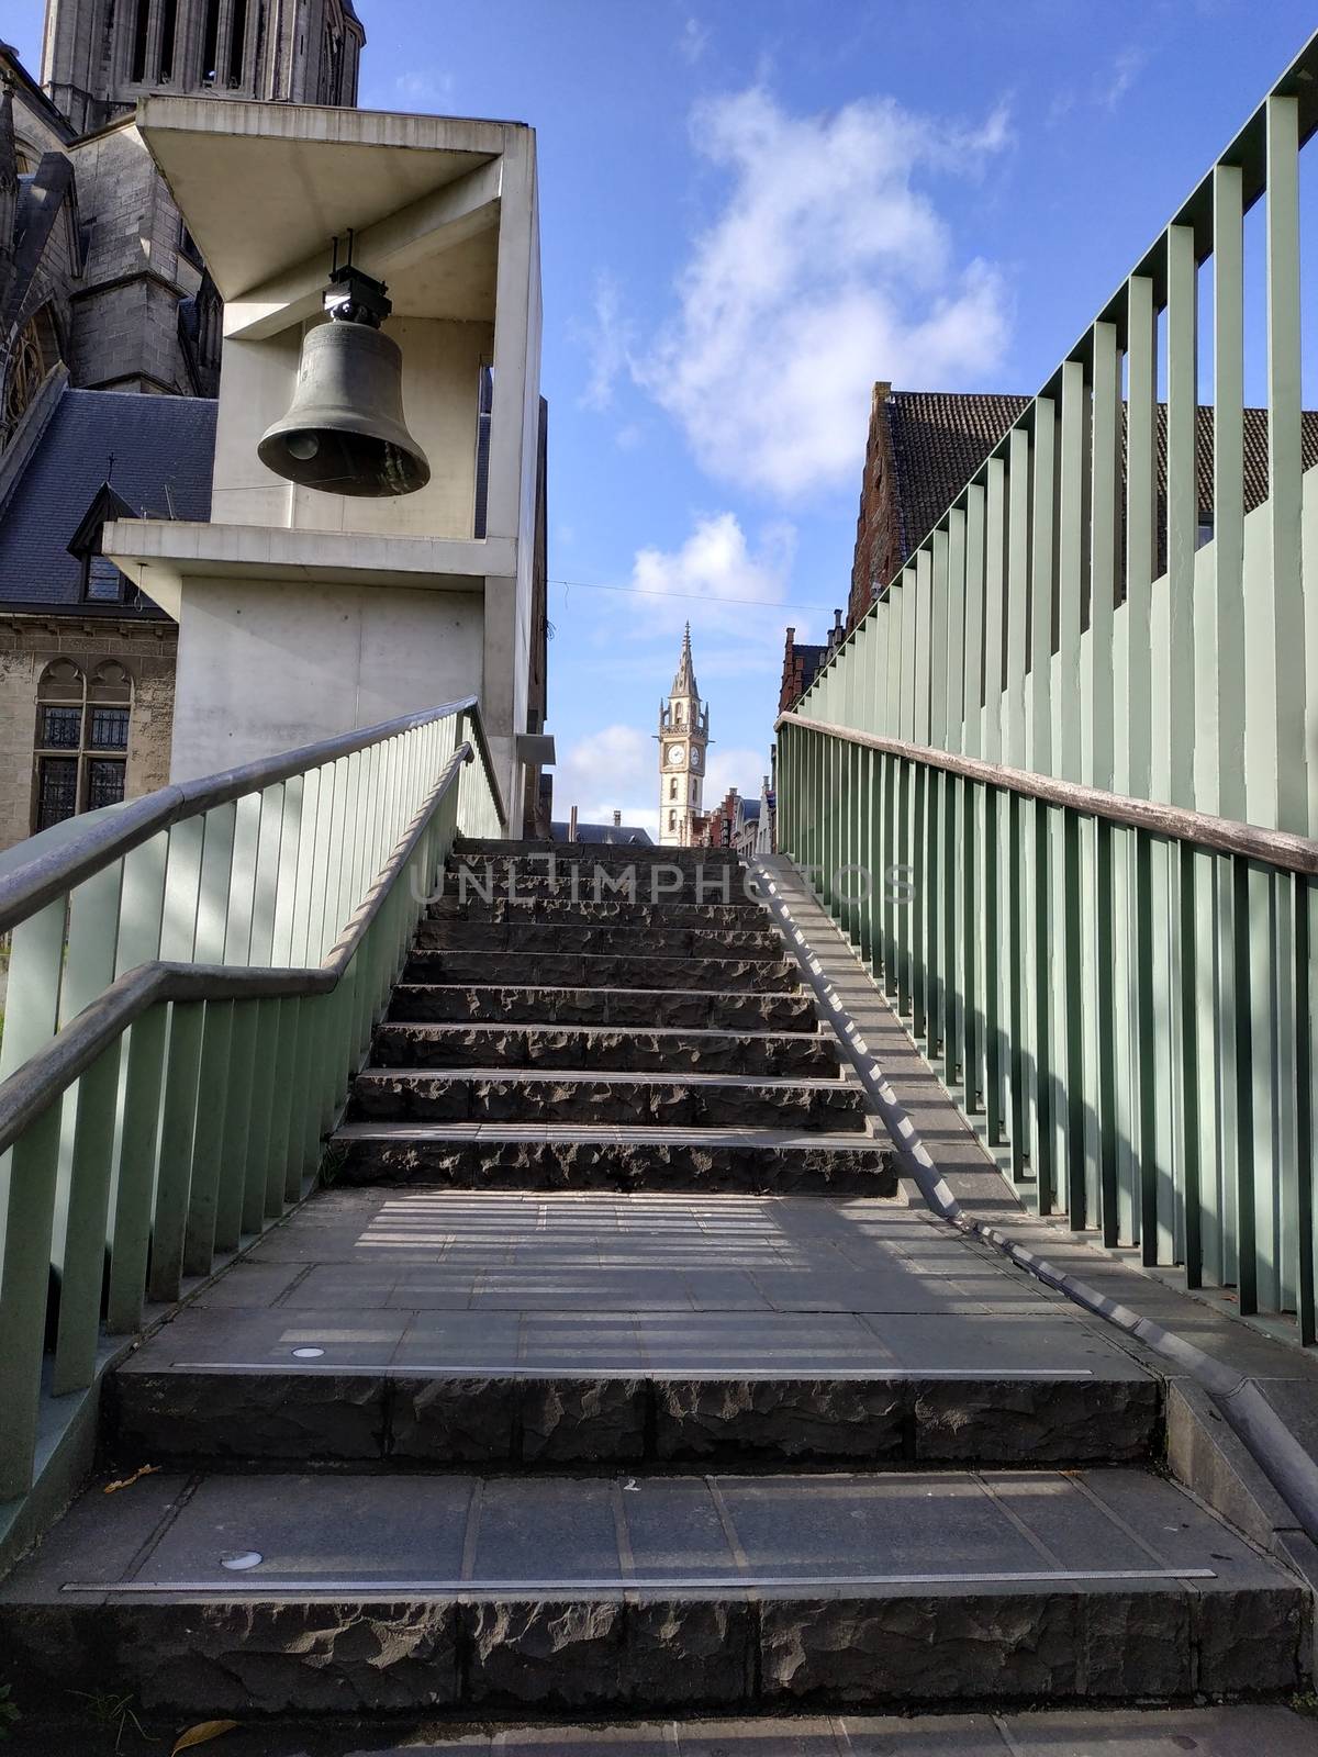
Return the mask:
POLYGON ((833 1033, 710 1031, 654 1026, 381 1024, 373 1056, 387 1068, 610 1068, 619 1072, 836 1077, 833 1033))

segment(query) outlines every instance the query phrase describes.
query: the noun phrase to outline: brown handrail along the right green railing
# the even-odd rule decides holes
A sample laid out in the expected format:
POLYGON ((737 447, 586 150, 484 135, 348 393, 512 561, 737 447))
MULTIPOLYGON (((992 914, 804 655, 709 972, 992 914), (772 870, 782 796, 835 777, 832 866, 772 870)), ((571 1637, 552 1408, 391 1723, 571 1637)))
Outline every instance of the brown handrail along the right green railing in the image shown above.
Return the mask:
POLYGON ((1285 829, 1264 829, 1260 824, 1239 824, 1235 819, 1211 817, 1207 812, 1158 805, 1153 799, 1133 799, 1123 792, 1105 792, 1102 787, 1084 787, 1081 782, 1037 775, 1033 770, 982 763, 952 750, 912 745, 903 738, 879 738, 873 733, 858 733, 852 726, 835 726, 829 720, 808 720, 800 713, 780 713, 773 729, 782 731, 784 726, 800 726, 807 733, 821 733, 828 738, 845 738, 866 750, 882 750, 884 756, 923 763, 944 775, 960 775, 963 780, 1000 787, 1003 792, 1016 792, 1025 799, 1060 805, 1070 812, 1081 812, 1084 817, 1098 817, 1107 824, 1148 829, 1172 842, 1190 842, 1200 849, 1216 849, 1220 854, 1262 861, 1283 871, 1302 873, 1309 878, 1318 877, 1318 842, 1293 836, 1285 829))

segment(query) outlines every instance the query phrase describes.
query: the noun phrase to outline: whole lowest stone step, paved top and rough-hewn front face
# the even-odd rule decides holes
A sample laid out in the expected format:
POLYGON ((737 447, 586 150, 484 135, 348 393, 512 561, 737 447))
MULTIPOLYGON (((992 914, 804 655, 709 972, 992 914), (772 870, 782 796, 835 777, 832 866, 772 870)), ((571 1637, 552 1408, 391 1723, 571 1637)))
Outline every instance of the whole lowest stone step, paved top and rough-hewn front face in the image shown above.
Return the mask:
POLYGON ((179 1720, 1288 1696, 1306 1592, 1141 1471, 102 1483, 0 1587, 19 1697, 179 1720))

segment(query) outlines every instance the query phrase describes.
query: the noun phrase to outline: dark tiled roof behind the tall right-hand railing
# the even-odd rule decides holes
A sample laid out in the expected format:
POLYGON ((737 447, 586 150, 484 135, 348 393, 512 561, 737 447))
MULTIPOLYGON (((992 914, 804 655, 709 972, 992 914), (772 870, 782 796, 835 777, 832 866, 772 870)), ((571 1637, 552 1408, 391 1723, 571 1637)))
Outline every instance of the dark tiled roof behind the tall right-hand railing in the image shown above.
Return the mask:
MULTIPOLYGON (((1030 397, 894 390, 884 399, 893 441, 902 553, 910 553, 965 488, 998 439, 1030 406, 1030 397)), ((1302 422, 1304 469, 1318 464, 1318 409, 1302 422)), ((1213 506, 1213 408, 1199 409, 1195 430, 1199 504, 1213 506)), ((1158 492, 1167 492, 1167 406, 1158 406, 1158 492)), ((1244 510, 1267 499, 1267 409, 1244 411, 1244 510)), ((798 647, 796 652, 808 652, 798 647)))

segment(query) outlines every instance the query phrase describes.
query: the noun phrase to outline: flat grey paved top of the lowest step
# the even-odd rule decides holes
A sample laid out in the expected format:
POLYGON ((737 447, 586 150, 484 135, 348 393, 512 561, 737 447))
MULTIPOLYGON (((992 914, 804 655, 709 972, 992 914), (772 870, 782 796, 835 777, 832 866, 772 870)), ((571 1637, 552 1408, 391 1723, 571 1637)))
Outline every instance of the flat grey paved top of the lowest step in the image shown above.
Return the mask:
POLYGON ((1174 1483, 1123 1469, 645 1481, 626 1472, 162 1472, 121 1497, 88 1490, 9 1578, 4 1599, 21 1604, 77 1585, 351 1597, 388 1581, 409 1583, 418 1597, 462 1581, 554 1597, 576 1583, 645 1583, 650 1565, 655 1581, 673 1581, 684 1555, 706 1576, 729 1551, 738 1580, 761 1587, 814 1580, 905 1590, 914 1578, 928 1590, 984 1581, 996 1590, 1003 1576, 1019 1576, 1030 1590, 1053 1590, 1074 1576, 1149 1574, 1165 1587, 1191 1581, 1200 1595, 1292 1587, 1174 1483), (225 1567, 235 1557, 258 1560, 225 1567))

